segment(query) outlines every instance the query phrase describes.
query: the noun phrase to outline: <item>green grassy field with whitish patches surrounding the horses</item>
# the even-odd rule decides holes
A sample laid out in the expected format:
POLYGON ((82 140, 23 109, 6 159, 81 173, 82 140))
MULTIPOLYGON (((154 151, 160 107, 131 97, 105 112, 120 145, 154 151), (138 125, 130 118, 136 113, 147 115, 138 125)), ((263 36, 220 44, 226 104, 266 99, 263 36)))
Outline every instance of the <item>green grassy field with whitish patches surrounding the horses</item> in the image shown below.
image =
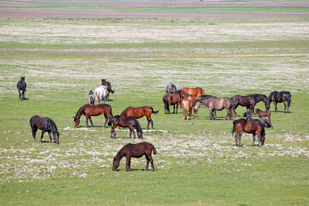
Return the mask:
MULTIPOLYGON (((1 19, 0 205, 307 205, 308 20, 1 19), (25 76, 26 100, 16 82, 25 76), (128 130, 74 128, 89 89, 110 81, 113 115, 152 106, 155 130, 128 139, 128 130), (290 91, 290 113, 272 113, 265 145, 233 146, 232 121, 165 115, 162 97, 173 82, 209 95, 290 91), (32 142, 30 117, 56 122, 60 145, 32 142), (155 172, 132 159, 117 172, 113 157, 128 143, 157 148, 155 172)), ((256 108, 264 110, 264 104, 256 108)), ((271 104, 271 111, 274 110, 271 104)), ((241 106, 238 114, 246 111, 241 106)), ((37 136, 40 136, 40 132, 37 136)))

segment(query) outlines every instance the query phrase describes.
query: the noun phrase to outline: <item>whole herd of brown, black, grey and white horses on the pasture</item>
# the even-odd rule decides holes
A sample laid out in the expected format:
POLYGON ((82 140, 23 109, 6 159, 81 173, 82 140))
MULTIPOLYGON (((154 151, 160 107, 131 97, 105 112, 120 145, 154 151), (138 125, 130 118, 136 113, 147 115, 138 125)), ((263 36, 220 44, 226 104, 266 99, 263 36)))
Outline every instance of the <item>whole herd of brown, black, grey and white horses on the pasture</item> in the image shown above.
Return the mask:
MULTIPOLYGON (((17 89, 19 90, 19 100, 25 100, 25 91, 26 86, 25 77, 21 77, 21 80, 16 84, 17 89), (21 93, 22 91, 22 93, 21 93)), ((217 98, 213 95, 206 95, 203 89, 196 88, 182 88, 177 90, 176 85, 170 83, 168 87, 166 87, 166 93, 163 95, 163 105, 165 109, 165 114, 170 114, 170 106, 176 107, 176 113, 178 113, 178 106, 181 105, 183 110, 183 119, 193 119, 196 117, 196 112, 201 105, 209 108, 209 119, 216 119, 216 111, 222 111, 225 109, 227 111, 227 115, 224 119, 233 119, 234 117, 238 117, 236 113, 236 108, 238 106, 246 106, 247 113, 244 113, 244 118, 240 118, 233 121, 233 130, 232 135, 236 133, 236 146, 242 146, 241 144, 241 136, 242 133, 252 133, 253 134, 253 146, 255 142, 255 136, 258 137, 258 146, 264 145, 265 137, 265 129, 264 128, 273 128, 271 124, 271 111, 269 111, 270 104, 273 102, 275 105, 275 112, 277 112, 277 103, 284 103, 284 113, 288 113, 288 108, 291 103, 291 95, 288 91, 273 91, 268 97, 263 94, 247 94, 247 95, 235 95, 231 98, 217 98), (266 111, 262 111, 259 108, 255 109, 255 104, 258 102, 264 102, 266 111), (287 111, 286 111, 287 107, 287 111), (194 117, 192 112, 194 112, 194 117), (252 119, 253 114, 259 115, 260 118, 252 119), (262 117, 268 117, 262 118, 262 117)), ((75 117, 73 117, 73 121, 75 126, 78 127, 80 124, 80 117, 84 115, 86 117, 86 127, 88 127, 88 121, 90 120, 91 126, 93 127, 93 122, 91 116, 98 116, 104 114, 105 122, 108 126, 111 127, 111 138, 116 138, 115 128, 129 128, 130 134, 129 138, 131 138, 131 134, 133 133, 134 138, 136 138, 135 130, 137 130, 137 137, 139 139, 143 139, 143 132, 141 130, 141 126, 137 119, 146 116, 148 120, 147 128, 151 124, 153 127, 153 120, 151 119, 151 115, 159 113, 159 111, 154 111, 151 106, 141 106, 141 107, 133 107, 129 106, 126 108, 120 115, 113 115, 111 105, 105 104, 108 101, 109 94, 114 93, 111 89, 111 82, 102 79, 101 86, 95 89, 95 94, 93 95, 93 91, 89 90, 89 96, 87 98, 88 104, 84 104, 81 106, 75 117), (95 99, 98 101, 98 104, 95 105, 95 99), (101 101, 104 101, 104 104, 100 104, 101 101)), ((36 131, 38 129, 42 130, 41 141, 43 139, 43 134, 47 132, 49 134, 49 139, 51 142, 59 144, 59 133, 56 124, 52 119, 48 117, 40 117, 38 115, 34 115, 30 119, 30 126, 32 128, 32 137, 33 141, 36 141, 36 131), (53 134, 53 138, 52 135, 53 134)), ((104 127, 103 126, 103 127, 104 127)), ((155 146, 144 141, 139 144, 127 144, 124 146, 119 152, 117 152, 116 157, 113 159, 113 170, 117 170, 119 167, 119 161, 122 157, 126 157, 126 171, 130 171, 130 158, 131 157, 142 157, 145 156, 147 160, 147 164, 145 170, 148 170, 149 162, 152 165, 152 171, 155 170, 153 165, 153 160, 151 157, 152 151, 154 155, 157 153, 155 150, 155 146)))

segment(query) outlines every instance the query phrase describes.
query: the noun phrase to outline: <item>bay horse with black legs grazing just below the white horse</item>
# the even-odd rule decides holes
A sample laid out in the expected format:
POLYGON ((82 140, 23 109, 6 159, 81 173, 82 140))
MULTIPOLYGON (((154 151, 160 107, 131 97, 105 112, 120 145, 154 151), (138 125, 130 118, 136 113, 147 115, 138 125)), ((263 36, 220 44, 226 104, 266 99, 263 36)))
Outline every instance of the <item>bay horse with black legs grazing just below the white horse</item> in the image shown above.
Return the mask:
POLYGON ((81 106, 80 109, 78 109, 78 112, 76 113, 75 117, 73 117, 75 126, 78 127, 78 125, 80 124, 80 117, 82 115, 85 115, 86 116, 86 127, 88 127, 88 119, 90 120, 91 126, 93 127, 91 116, 98 116, 102 114, 104 114, 104 117, 105 117, 105 124, 104 124, 105 126, 107 123, 107 119, 111 119, 111 117, 113 117, 111 105, 109 104, 97 104, 97 105, 84 104, 84 106, 81 106))

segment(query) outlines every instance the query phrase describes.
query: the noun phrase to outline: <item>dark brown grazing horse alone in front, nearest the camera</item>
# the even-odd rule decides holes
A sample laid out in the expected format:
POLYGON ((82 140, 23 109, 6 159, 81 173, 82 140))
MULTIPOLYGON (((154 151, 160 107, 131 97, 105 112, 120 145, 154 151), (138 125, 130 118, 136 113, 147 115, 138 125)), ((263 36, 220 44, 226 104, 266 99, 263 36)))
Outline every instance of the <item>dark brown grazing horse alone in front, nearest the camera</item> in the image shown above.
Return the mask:
POLYGON ((145 171, 148 170, 149 162, 151 163, 151 171, 155 171, 155 166, 153 165, 153 159, 151 157, 151 152, 153 150, 153 155, 157 154, 155 146, 144 141, 137 144, 126 144, 119 152, 117 152, 116 157, 113 159, 113 171, 117 171, 119 167, 120 160, 122 157, 126 156, 126 172, 131 171, 131 157, 139 158, 145 155, 147 163, 145 171))

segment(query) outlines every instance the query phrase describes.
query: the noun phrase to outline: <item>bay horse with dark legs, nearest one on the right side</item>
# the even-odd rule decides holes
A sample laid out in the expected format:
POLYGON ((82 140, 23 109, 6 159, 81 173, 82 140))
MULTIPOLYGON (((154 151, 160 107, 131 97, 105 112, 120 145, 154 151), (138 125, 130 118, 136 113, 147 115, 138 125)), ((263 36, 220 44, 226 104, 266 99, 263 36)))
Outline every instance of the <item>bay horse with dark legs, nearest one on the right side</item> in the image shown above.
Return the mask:
POLYGON ((232 130, 232 136, 234 133, 235 135, 235 141, 236 146, 242 146, 242 143, 240 141, 242 137, 242 133, 251 133, 253 134, 253 146, 255 141, 255 135, 258 136, 259 144, 258 146, 264 145, 265 141, 265 129, 262 123, 257 119, 238 119, 233 121, 233 130, 232 130))

